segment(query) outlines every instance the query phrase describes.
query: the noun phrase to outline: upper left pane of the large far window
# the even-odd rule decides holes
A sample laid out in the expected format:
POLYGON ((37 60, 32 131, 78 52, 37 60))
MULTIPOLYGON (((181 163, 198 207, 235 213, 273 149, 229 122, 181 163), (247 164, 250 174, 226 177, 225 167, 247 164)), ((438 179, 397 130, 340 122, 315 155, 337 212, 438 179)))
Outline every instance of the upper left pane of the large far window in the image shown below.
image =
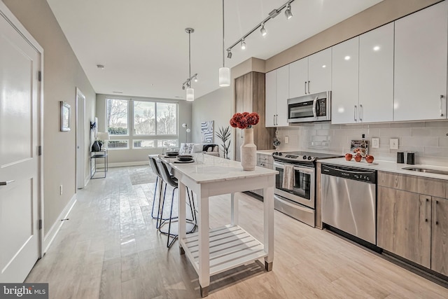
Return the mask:
POLYGON ((106 100, 107 129, 111 135, 128 135, 127 113, 128 105, 125 99, 106 100))

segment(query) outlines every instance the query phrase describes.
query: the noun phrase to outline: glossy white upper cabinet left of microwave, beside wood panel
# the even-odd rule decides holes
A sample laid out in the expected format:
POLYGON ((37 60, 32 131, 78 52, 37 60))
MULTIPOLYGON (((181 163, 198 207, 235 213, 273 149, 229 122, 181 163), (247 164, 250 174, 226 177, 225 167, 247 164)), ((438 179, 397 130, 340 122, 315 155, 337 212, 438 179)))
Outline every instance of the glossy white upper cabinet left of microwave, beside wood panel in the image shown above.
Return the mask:
POLYGON ((266 73, 266 127, 287 127, 289 97, 289 65, 266 73))

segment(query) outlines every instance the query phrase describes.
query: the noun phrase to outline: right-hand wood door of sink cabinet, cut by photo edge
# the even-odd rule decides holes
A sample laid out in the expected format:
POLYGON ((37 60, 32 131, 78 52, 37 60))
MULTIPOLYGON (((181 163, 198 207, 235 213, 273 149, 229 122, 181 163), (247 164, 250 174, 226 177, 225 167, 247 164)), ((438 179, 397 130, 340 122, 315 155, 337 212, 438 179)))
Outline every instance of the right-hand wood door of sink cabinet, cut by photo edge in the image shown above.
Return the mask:
POLYGON ((431 269, 448 276, 448 200, 433 197, 431 269))

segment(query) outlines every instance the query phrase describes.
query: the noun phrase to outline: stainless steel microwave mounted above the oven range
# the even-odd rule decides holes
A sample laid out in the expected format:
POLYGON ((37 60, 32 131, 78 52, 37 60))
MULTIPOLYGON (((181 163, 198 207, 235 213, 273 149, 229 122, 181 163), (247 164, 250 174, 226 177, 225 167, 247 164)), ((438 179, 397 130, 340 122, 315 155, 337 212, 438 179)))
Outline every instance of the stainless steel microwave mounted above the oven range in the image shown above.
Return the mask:
POLYGON ((331 120, 331 92, 288 99, 288 123, 331 120))

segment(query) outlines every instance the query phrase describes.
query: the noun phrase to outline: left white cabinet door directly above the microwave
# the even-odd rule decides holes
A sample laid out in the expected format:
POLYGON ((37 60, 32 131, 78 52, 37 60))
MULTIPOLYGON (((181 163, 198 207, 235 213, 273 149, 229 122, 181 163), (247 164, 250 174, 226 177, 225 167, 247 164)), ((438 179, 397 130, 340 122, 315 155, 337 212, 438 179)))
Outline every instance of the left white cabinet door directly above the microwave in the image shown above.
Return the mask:
POLYGON ((289 97, 302 97, 309 92, 308 57, 289 64, 289 97))

